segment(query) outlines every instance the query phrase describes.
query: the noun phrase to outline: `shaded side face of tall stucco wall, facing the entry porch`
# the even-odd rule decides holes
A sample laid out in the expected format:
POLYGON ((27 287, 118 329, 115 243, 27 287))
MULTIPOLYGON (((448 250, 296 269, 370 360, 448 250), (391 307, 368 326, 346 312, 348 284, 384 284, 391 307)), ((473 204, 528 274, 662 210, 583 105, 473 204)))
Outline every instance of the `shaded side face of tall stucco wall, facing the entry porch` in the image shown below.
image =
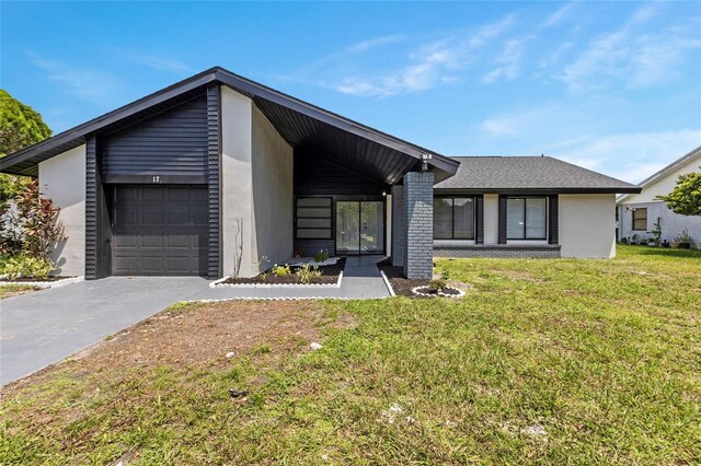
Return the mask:
MULTIPOLYGON (((273 264, 288 260, 292 255, 294 159, 292 148, 255 105, 252 131, 251 266, 253 272, 257 273, 273 264)), ((223 179, 226 183, 227 178, 223 179)))

